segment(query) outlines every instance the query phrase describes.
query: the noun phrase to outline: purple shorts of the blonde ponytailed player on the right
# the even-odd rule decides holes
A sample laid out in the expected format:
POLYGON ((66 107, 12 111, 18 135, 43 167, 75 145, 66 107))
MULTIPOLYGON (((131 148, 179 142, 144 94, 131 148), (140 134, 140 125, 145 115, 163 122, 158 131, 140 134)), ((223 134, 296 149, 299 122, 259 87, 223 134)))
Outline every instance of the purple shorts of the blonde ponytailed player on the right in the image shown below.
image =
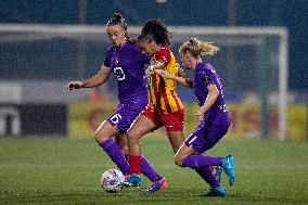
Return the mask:
POLYGON ((193 133, 185 140, 185 145, 191 146, 197 154, 203 154, 211 149, 228 131, 228 124, 211 124, 201 121, 193 133))

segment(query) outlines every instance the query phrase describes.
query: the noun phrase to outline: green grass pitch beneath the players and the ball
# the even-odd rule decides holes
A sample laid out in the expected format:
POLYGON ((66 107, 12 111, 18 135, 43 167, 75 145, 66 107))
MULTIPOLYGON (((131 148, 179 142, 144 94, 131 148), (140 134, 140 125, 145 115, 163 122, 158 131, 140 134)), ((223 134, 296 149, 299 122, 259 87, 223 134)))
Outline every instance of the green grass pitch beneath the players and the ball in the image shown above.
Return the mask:
MULTIPOLYGON (((174 165, 163 137, 141 140, 143 154, 168 188, 111 194, 100 187, 116 168, 94 140, 0 138, 0 204, 308 204, 308 143, 223 139, 208 155, 235 156, 235 185, 223 175, 227 197, 202 197, 208 185, 191 169, 174 165)), ((150 184, 146 178, 144 187, 150 184)))

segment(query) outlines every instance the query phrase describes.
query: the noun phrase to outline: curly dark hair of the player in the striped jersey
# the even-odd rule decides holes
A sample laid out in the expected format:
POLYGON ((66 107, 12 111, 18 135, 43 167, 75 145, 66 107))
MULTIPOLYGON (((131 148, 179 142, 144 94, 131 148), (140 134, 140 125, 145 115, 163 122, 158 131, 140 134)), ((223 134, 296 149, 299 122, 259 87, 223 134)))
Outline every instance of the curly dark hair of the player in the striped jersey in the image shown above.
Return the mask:
POLYGON ((152 18, 144 23, 138 40, 152 39, 157 44, 169 46, 171 33, 168 31, 166 26, 158 20, 152 18))

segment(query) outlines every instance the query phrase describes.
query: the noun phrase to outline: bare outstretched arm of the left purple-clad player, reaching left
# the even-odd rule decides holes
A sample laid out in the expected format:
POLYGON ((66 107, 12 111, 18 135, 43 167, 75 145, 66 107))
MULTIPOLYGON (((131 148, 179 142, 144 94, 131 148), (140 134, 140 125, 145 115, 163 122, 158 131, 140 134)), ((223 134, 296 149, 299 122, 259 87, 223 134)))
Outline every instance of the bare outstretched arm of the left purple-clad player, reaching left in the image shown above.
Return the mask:
POLYGON ((101 71, 97 75, 84 81, 70 81, 67 84, 66 89, 70 91, 74 89, 97 87, 104 84, 108 79, 110 75, 111 68, 102 65, 101 71))

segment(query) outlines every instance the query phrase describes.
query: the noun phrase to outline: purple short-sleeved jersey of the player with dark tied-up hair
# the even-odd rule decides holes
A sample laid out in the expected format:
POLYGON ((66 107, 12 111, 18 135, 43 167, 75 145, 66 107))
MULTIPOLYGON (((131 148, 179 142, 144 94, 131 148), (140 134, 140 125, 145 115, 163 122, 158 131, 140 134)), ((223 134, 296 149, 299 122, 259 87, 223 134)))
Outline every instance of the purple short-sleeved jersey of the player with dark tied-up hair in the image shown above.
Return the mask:
POLYGON ((130 41, 121 48, 111 47, 107 50, 104 65, 111 67, 117 79, 119 102, 141 93, 146 95, 144 64, 149 64, 150 60, 150 56, 144 55, 140 48, 130 41))

